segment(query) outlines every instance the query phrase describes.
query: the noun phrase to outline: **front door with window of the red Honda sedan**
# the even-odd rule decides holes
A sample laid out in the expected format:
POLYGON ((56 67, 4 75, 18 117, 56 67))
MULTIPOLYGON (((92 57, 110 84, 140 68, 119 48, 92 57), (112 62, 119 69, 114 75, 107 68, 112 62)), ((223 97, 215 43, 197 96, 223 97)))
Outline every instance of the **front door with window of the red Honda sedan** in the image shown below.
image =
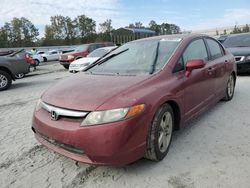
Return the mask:
POLYGON ((215 71, 214 64, 208 62, 209 54, 202 38, 192 41, 182 55, 183 63, 188 60, 203 59, 205 67, 193 70, 189 77, 184 78, 185 119, 189 120, 214 97, 215 71))

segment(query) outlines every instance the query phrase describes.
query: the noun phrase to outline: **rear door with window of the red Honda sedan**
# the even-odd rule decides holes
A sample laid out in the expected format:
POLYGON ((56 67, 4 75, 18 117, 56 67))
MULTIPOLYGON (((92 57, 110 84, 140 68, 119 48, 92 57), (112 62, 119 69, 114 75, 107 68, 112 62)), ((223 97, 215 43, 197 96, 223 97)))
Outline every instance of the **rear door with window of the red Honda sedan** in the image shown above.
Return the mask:
POLYGON ((209 63, 213 64, 215 74, 215 93, 218 96, 225 94, 228 77, 226 71, 226 56, 222 46, 212 38, 206 38, 209 51, 209 63))

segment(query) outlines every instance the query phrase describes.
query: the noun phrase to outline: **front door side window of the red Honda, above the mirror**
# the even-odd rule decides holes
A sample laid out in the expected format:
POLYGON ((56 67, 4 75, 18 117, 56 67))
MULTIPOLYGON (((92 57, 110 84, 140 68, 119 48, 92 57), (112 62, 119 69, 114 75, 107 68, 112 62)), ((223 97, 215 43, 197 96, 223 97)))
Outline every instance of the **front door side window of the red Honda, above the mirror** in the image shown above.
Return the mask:
POLYGON ((191 42, 183 53, 183 60, 185 64, 191 59, 208 60, 207 49, 202 39, 191 42))

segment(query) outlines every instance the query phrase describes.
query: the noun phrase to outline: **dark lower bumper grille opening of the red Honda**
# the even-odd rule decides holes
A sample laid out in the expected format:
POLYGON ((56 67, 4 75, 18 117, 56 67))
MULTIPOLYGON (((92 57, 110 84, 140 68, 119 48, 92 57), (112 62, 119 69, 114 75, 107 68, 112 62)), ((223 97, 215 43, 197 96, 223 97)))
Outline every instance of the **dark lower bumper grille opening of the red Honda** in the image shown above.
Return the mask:
POLYGON ((80 148, 76 148, 74 146, 71 146, 71 145, 68 145, 68 144, 64 144, 64 143, 61 143, 61 142, 58 142, 54 139, 51 139, 41 133, 38 133, 36 131, 36 134, 38 134, 40 137, 42 137, 44 140, 46 140, 47 142, 49 142, 50 144, 53 144, 59 148, 62 148, 66 151, 69 151, 71 153, 75 153, 75 154, 80 154, 80 155, 83 155, 85 152, 83 150, 81 150, 80 148))

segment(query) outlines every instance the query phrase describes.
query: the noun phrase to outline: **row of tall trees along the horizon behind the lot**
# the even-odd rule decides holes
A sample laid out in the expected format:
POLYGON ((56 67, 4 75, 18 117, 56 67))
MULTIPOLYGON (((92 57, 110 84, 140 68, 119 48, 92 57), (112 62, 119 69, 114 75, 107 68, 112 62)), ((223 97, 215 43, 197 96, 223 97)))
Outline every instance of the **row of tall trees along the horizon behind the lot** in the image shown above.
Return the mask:
MULTIPOLYGON (((89 42, 111 41, 114 30, 112 20, 107 19, 99 24, 96 31, 96 21, 86 15, 75 18, 56 15, 50 18, 50 24, 45 26, 44 36, 38 38, 38 28, 27 18, 14 17, 0 28, 0 48, 77 45, 89 42)), ((180 33, 180 27, 175 24, 157 24, 152 20, 148 26, 141 22, 131 23, 127 28, 147 28, 155 31, 156 35, 180 33)))

